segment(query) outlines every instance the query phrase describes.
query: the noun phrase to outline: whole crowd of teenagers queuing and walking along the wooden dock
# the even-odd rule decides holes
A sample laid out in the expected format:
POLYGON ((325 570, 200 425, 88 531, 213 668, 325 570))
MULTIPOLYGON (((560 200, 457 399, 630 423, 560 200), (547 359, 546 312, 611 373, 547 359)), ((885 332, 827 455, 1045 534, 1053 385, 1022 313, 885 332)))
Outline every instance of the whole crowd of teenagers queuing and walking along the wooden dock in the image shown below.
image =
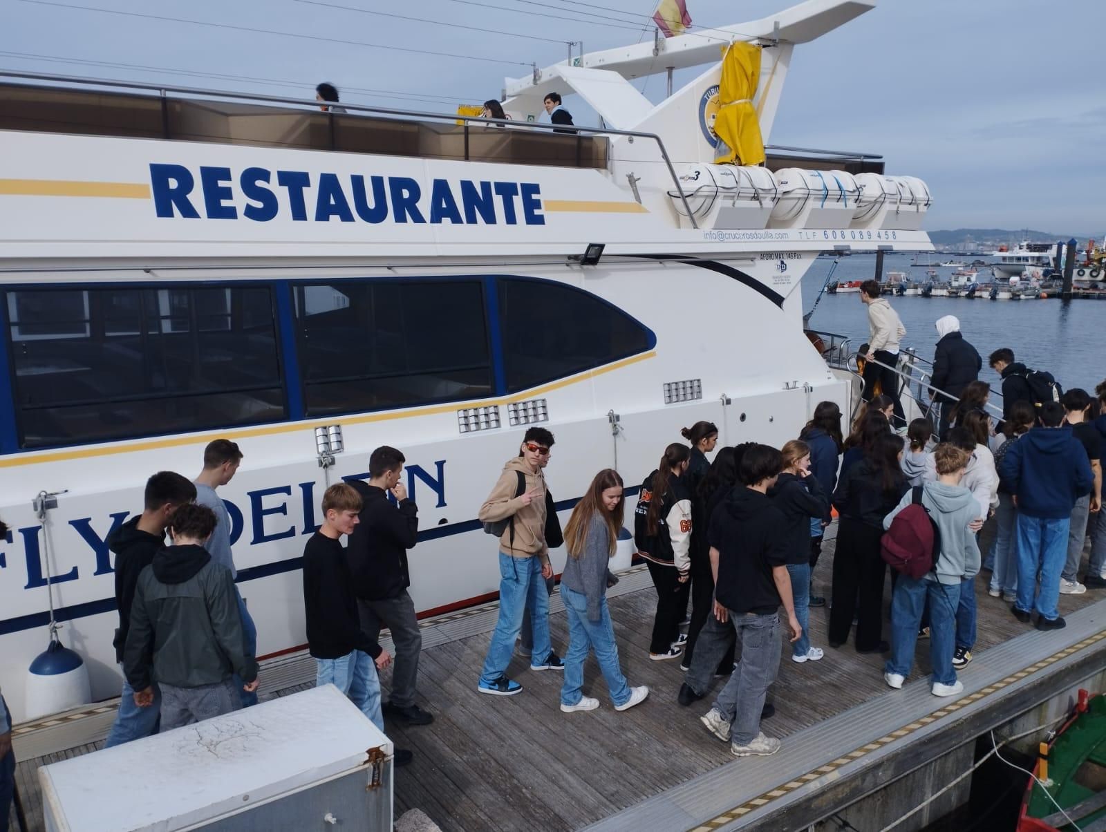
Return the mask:
MULTIPOLYGON (((900 336, 901 323, 886 301, 864 297, 877 308, 878 349, 870 354, 894 365, 897 337, 877 340, 875 327, 900 336)), ((811 607, 827 605, 813 592, 812 573, 834 510, 827 643, 842 648, 855 631, 858 653, 887 656, 884 678, 893 688, 909 676, 918 639, 928 638, 932 694, 963 689, 957 670, 972 659, 981 569, 991 572, 989 595, 1043 631, 1065 625, 1061 594, 1106 589, 1106 381, 1094 397, 1064 393, 1047 373, 997 350, 990 365, 1002 376, 1003 402, 994 424, 990 386, 975 377, 982 362, 950 318, 937 322, 933 379, 947 386, 935 392, 932 420, 897 429, 897 383, 880 368, 868 376, 847 436, 833 402, 818 404, 782 448, 717 448, 718 428, 699 422, 682 430, 686 443, 665 448, 639 487, 634 542, 657 592, 649 658, 681 661, 682 706, 726 679, 700 719, 735 756, 780 748, 760 724, 774 713, 770 688, 783 639, 796 664, 825 656, 811 643, 808 624, 811 607), (982 558, 985 522, 993 533, 982 558)), ((508 675, 519 655, 532 670, 563 673, 561 710, 593 710, 599 701, 584 690, 584 665, 594 652, 614 708, 625 710, 649 690, 623 675, 606 597, 617 583, 609 563, 625 521, 623 479, 609 468, 598 471, 562 530, 544 477, 553 444, 550 430, 529 428, 479 511, 484 531, 498 539, 500 603, 477 689, 520 694, 522 685, 508 675), (549 614, 549 551, 562 543, 564 659, 554 651, 549 614)), ((242 458, 237 444, 216 439, 195 480, 155 474, 142 513, 108 535, 124 682, 107 746, 258 701, 257 631, 234 583, 230 516, 217 493, 242 458)), ((406 726, 434 719, 416 703, 421 636, 407 550, 416 544, 418 508, 400 481, 404 462, 401 451, 382 446, 369 457, 367 481, 327 488, 322 526, 303 552, 316 684, 335 685, 382 730, 385 716, 406 726), (378 642, 382 628, 392 634, 394 658, 378 642), (377 672, 389 665, 390 696, 382 704, 377 672)), ((12 791, 10 730, 0 697, 0 809, 12 791)), ((405 765, 411 752, 397 749, 395 759, 405 765)))

